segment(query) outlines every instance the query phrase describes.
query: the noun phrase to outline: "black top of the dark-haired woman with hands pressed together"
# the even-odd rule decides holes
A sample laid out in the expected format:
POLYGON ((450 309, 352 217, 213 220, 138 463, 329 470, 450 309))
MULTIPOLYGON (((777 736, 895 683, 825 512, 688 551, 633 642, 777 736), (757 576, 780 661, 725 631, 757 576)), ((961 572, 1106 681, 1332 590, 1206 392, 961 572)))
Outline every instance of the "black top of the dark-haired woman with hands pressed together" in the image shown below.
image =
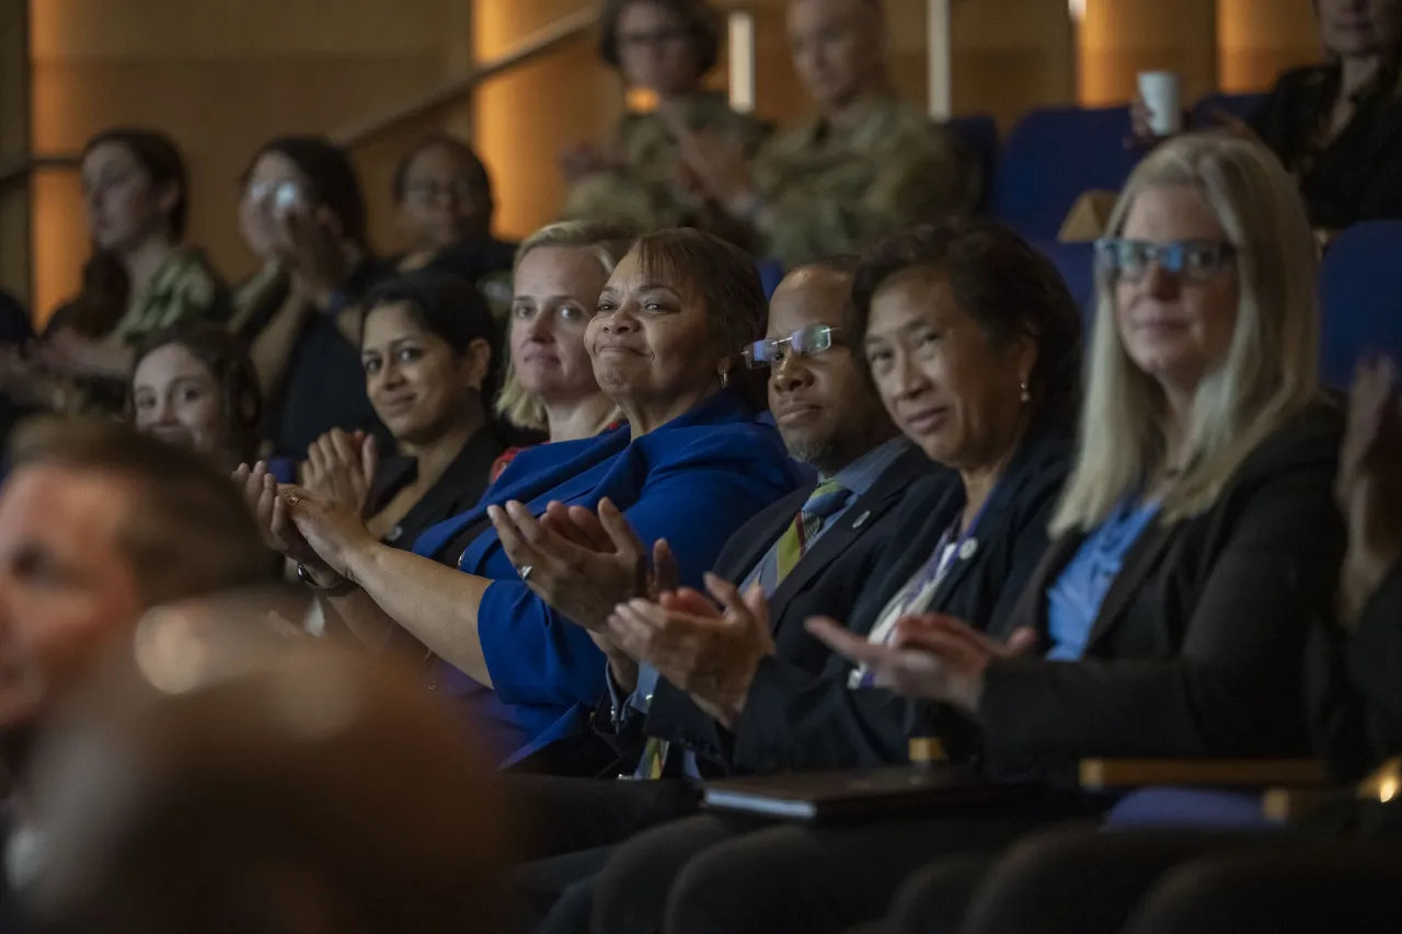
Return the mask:
MULTIPOLYGON (((505 449, 505 440, 491 424, 467 439, 439 481, 384 536, 384 544, 408 551, 425 529, 475 506, 491 482, 492 463, 505 449)), ((412 457, 381 460, 370 495, 366 496, 366 516, 384 509, 401 489, 418 478, 418 461, 412 457)))

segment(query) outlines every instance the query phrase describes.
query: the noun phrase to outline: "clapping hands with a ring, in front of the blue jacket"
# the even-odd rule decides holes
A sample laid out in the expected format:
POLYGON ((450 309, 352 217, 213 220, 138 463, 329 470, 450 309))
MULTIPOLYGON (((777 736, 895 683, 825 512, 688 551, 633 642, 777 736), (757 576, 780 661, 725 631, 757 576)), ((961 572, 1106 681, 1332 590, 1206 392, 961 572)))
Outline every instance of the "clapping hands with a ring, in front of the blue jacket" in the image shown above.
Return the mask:
MULTIPOLYGON (((590 632, 607 632, 615 606, 648 595, 646 548, 608 499, 599 503, 607 543, 571 534, 559 522, 541 522, 515 499, 505 509, 488 506, 486 515, 531 593, 590 632)), ((665 540, 653 544, 653 561, 673 564, 665 540)))

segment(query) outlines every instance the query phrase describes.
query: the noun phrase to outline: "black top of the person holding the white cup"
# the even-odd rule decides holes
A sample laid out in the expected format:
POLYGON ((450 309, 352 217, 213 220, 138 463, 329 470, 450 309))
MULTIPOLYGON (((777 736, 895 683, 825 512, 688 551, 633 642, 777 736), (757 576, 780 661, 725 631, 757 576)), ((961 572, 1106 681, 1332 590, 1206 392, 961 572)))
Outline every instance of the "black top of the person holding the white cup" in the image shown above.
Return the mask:
POLYGON ((1298 180, 1314 227, 1402 217, 1402 94, 1396 72, 1360 95, 1349 125, 1328 146, 1315 139, 1339 100, 1339 66, 1287 72, 1251 118, 1252 129, 1298 180))

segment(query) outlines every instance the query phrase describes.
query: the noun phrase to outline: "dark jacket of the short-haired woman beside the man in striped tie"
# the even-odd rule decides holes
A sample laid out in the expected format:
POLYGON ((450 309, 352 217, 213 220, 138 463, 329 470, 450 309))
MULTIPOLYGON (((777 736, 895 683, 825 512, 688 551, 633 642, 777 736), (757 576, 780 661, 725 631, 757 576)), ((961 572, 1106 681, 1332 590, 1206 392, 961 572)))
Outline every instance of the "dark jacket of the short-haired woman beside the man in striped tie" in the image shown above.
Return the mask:
MULTIPOLYGON (((960 555, 939 585, 930 611, 948 613, 980 628, 1004 631, 1046 550, 1046 527, 1071 459, 1068 428, 1029 429, 988 498, 976 532, 977 548, 960 555)), ((930 560, 941 536, 963 510, 963 484, 931 478, 906 496, 900 524, 847 616, 866 635, 886 604, 930 560)), ((829 655, 820 675, 782 656, 760 663, 736 725, 733 762, 747 771, 852 769, 908 762, 908 738, 931 717, 946 717, 923 701, 878 689, 851 690, 852 666, 829 655)))

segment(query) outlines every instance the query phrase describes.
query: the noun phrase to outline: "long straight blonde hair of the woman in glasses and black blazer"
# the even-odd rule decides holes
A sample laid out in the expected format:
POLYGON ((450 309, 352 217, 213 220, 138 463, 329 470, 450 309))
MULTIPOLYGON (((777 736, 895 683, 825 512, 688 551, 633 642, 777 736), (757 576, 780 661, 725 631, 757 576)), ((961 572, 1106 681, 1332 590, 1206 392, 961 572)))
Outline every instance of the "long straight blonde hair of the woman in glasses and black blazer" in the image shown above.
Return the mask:
MULTIPOLYGON (((1193 400, 1195 457, 1164 498, 1165 523, 1206 512, 1251 452, 1319 397, 1315 243, 1294 180, 1265 147, 1186 135, 1154 150, 1115 205, 1108 237, 1124 230, 1145 188, 1196 191, 1235 251, 1237 327, 1223 365, 1193 400)), ((1130 359, 1115 320, 1115 282, 1095 271, 1096 313, 1075 467, 1052 533, 1088 532, 1164 466, 1168 402, 1130 359)))

